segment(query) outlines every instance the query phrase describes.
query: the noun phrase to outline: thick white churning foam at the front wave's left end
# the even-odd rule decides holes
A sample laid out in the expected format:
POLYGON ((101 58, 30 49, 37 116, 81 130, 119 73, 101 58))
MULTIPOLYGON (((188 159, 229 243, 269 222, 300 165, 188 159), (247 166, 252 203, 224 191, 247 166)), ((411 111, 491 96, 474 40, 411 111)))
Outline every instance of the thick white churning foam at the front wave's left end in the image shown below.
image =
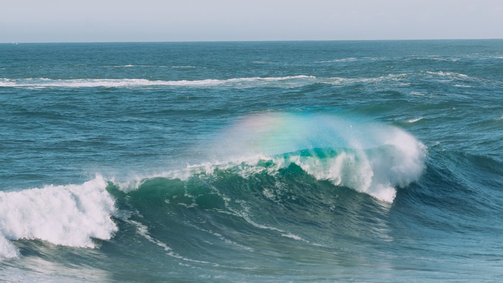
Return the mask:
POLYGON ((40 239, 56 245, 95 247, 117 231, 114 199, 101 176, 80 185, 0 192, 0 259, 20 255, 11 240, 40 239))

